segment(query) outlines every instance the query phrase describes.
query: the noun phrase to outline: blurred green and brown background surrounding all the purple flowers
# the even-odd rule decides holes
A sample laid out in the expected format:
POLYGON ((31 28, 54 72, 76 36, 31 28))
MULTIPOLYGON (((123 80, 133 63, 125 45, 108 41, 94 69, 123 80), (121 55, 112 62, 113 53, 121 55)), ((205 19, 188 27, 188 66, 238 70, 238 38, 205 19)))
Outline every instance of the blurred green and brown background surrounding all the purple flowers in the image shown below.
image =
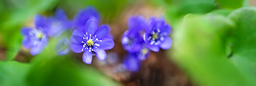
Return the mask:
MULTIPOLYGON (((255 86, 255 0, 1 0, 0 86, 255 86), (32 56, 22 46, 20 29, 33 27, 36 14, 63 8, 69 20, 94 6, 100 24, 108 24, 115 46, 107 58, 92 64, 83 53, 59 56, 60 38, 49 38, 42 53, 32 56), (131 15, 165 19, 173 45, 150 51, 137 72, 125 70, 127 52, 121 40, 131 15)), ((68 39, 73 30, 63 37, 68 39)))

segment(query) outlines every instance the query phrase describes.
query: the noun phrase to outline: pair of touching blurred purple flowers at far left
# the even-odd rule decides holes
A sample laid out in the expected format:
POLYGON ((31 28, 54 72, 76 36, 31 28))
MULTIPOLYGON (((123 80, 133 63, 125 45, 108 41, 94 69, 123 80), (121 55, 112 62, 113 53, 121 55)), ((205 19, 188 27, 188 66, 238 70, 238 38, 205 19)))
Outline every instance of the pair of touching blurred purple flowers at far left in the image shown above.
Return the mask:
POLYGON ((44 17, 37 14, 34 18, 35 27, 23 27, 21 33, 24 36, 22 45, 31 48, 31 55, 41 53, 48 42, 49 37, 60 35, 70 27, 63 9, 56 9, 55 15, 44 17))

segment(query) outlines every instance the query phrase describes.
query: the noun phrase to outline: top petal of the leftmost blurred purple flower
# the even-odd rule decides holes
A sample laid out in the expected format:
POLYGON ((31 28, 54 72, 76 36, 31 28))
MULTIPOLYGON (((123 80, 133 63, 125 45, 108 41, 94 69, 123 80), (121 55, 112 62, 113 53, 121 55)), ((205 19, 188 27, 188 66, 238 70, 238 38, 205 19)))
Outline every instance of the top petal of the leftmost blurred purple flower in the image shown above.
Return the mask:
POLYGON ((46 20, 45 20, 44 16, 42 16, 40 14, 37 14, 34 17, 34 23, 35 23, 36 28, 39 28, 39 27, 45 28, 46 27, 46 20))

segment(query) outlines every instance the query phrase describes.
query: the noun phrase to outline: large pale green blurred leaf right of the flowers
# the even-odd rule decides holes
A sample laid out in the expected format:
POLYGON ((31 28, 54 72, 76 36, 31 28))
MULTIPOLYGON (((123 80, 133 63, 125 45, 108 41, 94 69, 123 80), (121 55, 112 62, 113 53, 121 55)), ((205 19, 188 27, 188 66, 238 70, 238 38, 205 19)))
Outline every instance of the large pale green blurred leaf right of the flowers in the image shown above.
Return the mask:
MULTIPOLYGON (((230 42, 233 42, 230 32, 236 30, 236 24, 225 16, 214 14, 184 18, 183 24, 173 35, 172 59, 201 86, 254 86, 255 75, 240 68, 250 69, 254 67, 255 61, 251 63, 248 59, 233 59, 238 57, 234 52, 229 57, 232 54, 230 42)), ((239 56, 248 57, 246 54, 239 56)))

